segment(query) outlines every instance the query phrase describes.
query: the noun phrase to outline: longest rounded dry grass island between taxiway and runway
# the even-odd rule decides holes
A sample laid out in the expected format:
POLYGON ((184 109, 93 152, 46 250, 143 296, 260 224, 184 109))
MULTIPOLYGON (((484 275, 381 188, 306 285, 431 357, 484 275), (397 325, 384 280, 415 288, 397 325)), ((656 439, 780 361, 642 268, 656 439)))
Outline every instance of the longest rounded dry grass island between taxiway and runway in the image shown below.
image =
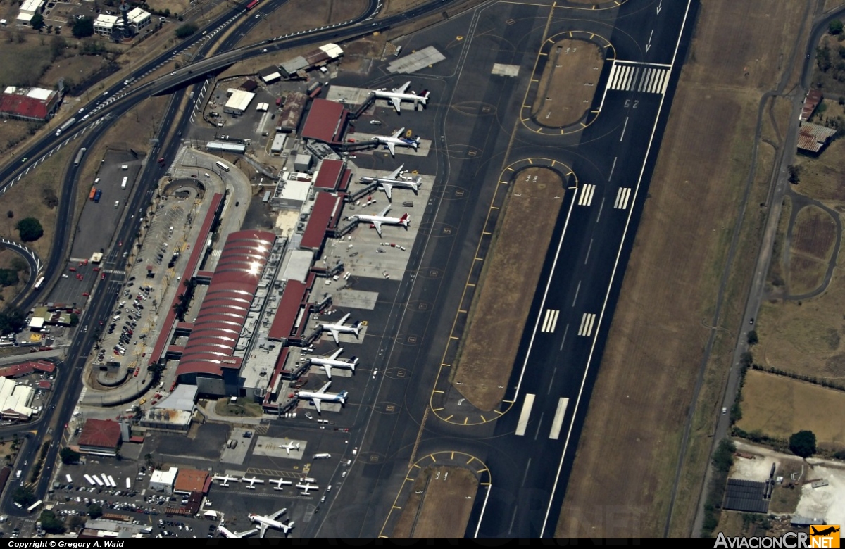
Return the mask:
POLYGON ((563 195, 563 182, 547 168, 519 172, 510 188, 472 298, 451 380, 460 383, 455 388, 481 410, 493 410, 504 396, 540 279, 540 269, 525 265, 536 264, 542 258, 537 250, 548 249, 563 195), (498 336, 491 339, 490 334, 498 336))

